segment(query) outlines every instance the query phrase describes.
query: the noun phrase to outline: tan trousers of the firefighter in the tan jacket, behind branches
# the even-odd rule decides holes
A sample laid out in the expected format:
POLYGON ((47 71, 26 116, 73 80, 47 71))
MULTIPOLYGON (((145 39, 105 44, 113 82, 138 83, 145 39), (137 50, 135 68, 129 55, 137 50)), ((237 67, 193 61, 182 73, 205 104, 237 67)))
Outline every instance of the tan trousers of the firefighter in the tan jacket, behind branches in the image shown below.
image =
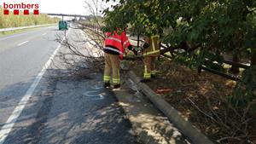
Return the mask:
POLYGON ((151 76, 156 75, 156 70, 155 70, 155 61, 156 61, 156 56, 145 56, 143 59, 144 63, 144 73, 143 73, 143 78, 144 79, 150 79, 151 76))

